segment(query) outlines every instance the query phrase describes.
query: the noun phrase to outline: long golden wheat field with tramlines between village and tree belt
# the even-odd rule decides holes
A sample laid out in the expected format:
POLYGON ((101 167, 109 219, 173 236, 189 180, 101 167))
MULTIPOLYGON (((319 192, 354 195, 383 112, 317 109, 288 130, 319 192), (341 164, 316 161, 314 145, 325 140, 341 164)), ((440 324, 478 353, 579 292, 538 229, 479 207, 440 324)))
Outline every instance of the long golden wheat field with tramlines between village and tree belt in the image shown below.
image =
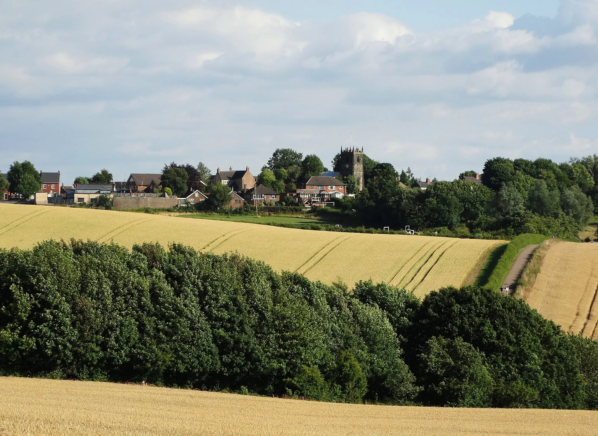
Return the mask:
POLYGON ((274 270, 353 285, 372 279, 405 286, 419 297, 460 286, 495 240, 299 230, 245 222, 134 212, 0 205, 0 247, 32 248, 47 239, 135 243, 172 242, 216 254, 238 251, 274 270))

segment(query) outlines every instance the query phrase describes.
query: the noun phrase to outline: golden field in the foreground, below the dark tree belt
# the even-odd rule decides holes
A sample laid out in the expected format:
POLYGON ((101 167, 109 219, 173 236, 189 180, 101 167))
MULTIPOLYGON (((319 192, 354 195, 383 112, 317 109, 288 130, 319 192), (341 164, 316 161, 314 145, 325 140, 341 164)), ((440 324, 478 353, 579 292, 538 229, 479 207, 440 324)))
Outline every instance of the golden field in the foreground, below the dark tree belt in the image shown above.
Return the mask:
POLYGON ((598 412, 332 404, 0 377, 2 435, 590 435, 598 412))

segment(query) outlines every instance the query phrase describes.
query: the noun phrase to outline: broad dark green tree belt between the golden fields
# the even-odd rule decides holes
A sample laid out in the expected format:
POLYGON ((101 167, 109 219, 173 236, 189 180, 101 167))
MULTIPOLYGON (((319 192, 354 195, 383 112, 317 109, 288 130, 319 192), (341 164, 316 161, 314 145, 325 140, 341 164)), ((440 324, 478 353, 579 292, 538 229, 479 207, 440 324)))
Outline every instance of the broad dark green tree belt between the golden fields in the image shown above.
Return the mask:
POLYGON ((0 250, 0 374, 313 400, 598 408, 598 346, 475 287, 327 286, 239 255, 0 250), (43 279, 40 279, 43 278, 43 279))

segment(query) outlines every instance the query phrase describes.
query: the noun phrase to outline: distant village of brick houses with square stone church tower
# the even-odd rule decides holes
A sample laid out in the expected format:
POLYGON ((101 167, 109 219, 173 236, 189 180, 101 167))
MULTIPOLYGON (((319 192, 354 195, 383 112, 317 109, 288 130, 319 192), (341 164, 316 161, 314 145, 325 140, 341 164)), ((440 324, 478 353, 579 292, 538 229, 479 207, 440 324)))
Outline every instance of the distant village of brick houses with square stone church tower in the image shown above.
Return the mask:
MULTIPOLYGON (((260 184, 258 176, 253 175, 249 166, 245 169, 228 170, 218 168, 215 174, 211 175, 206 183, 203 180, 196 182, 193 189, 184 194, 169 195, 162 189, 163 173, 130 173, 126 181, 111 181, 109 183, 72 183, 65 185, 60 171, 40 171, 41 188, 35 193, 36 204, 88 204, 96 202, 98 197, 109 195, 114 201, 115 207, 136 208, 171 208, 179 205, 196 205, 204 202, 210 196, 209 185, 226 185, 231 190, 231 199, 228 207, 238 208, 244 204, 252 206, 270 205, 280 206, 281 203, 292 203, 293 205, 311 207, 326 205, 334 199, 342 199, 345 196, 355 197, 355 192, 347 189, 347 183, 343 180, 352 176, 356 182, 356 190, 364 188, 364 151, 359 148, 344 148, 340 151, 340 159, 337 165, 338 171, 324 171, 319 175, 310 175, 298 180, 294 191, 277 191, 264 184, 260 184), (283 202, 286 200, 286 202, 283 202)), ((3 174, 8 179, 7 174, 3 174)), ((471 177, 472 181, 480 183, 480 176, 471 177), (475 179, 475 180, 473 180, 475 179)), ((425 182, 419 182, 420 188, 425 190, 428 185, 433 184, 429 178, 425 182)), ((5 190, 2 200, 15 201, 21 196, 5 190)), ((284 205, 284 204, 283 204, 284 205)))

